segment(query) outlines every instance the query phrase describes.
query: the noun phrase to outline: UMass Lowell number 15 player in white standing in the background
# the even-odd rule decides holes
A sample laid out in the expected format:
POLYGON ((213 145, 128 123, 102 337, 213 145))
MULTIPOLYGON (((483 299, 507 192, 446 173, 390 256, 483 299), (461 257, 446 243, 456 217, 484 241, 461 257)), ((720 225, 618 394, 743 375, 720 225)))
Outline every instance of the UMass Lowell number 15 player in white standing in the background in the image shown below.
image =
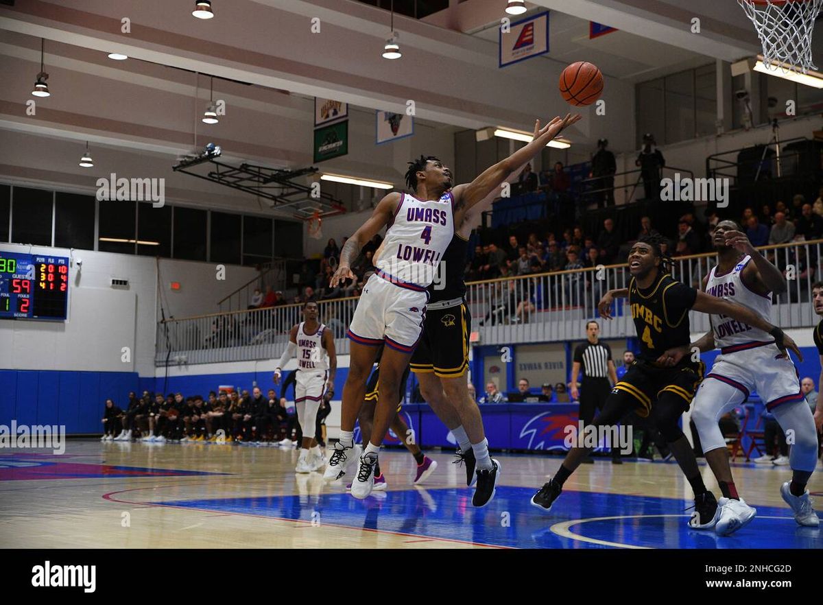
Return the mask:
POLYGON ((303 443, 297 458, 297 472, 312 472, 323 468, 325 460, 317 440, 314 425, 323 396, 334 394, 334 373, 337 370, 337 354, 334 351, 334 335, 318 321, 316 302, 303 305, 304 321, 291 327, 289 344, 274 370, 274 384, 280 384, 282 368, 297 353, 297 379, 295 381, 295 407, 297 420, 303 428, 303 443))

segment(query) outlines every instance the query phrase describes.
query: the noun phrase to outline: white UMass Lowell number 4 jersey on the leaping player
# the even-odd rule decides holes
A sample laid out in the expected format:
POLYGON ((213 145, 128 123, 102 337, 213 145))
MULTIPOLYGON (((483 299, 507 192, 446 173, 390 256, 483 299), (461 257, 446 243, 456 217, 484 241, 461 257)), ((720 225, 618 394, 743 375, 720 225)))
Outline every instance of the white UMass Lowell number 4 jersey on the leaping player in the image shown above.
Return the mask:
POLYGON ((402 193, 383 248, 374 266, 389 281, 398 280, 425 289, 454 235, 454 198, 419 200, 402 193))

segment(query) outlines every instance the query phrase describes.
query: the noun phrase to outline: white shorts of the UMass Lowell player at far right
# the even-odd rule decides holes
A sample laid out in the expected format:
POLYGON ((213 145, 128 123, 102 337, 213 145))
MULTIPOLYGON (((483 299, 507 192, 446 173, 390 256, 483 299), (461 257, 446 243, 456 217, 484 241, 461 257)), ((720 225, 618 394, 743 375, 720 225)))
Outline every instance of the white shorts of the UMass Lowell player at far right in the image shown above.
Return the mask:
MULTIPOLYGON (((715 379, 738 389, 742 394, 740 403, 744 403, 752 391, 755 391, 765 404, 766 409, 772 410, 783 403, 799 401, 803 398, 800 391, 800 376, 797 368, 788 357, 781 356, 780 350, 774 343, 756 346, 752 343, 734 347, 737 351, 718 355, 714 365, 700 384, 695 395, 695 406, 700 397, 710 397, 712 383, 715 379)), ((726 347, 723 351, 728 351, 726 347)), ((739 403, 737 404, 739 405, 739 403)))

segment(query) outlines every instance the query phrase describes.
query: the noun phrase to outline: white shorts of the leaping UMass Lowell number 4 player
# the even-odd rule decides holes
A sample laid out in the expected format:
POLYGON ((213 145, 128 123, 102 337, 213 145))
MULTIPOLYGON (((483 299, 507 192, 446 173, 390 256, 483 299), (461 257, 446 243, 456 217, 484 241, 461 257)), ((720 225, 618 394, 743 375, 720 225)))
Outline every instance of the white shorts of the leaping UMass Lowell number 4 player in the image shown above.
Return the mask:
POLYGON ((365 283, 346 336, 354 342, 412 353, 420 340, 429 293, 374 273, 365 283))

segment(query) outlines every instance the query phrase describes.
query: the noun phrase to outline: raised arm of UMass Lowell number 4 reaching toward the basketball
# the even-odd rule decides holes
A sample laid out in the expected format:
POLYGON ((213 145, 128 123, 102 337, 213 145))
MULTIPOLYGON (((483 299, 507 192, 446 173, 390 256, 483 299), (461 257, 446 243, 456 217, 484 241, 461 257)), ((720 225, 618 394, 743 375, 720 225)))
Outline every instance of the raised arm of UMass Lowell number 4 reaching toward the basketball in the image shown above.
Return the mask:
MULTIPOLYGON (((539 136, 528 143, 528 145, 518 149, 518 151, 514 151, 511 156, 503 161, 499 161, 497 164, 487 168, 471 183, 459 184, 452 188, 454 209, 458 212, 457 220, 462 222, 463 213, 466 212, 468 208, 471 208, 481 202, 483 198, 486 198, 489 193, 493 192, 495 188, 498 188, 509 175, 517 170, 518 166, 527 163, 534 156, 537 156, 537 153, 541 151, 543 147, 546 147, 551 139, 556 137, 563 128, 570 126, 579 119, 579 114, 575 114, 574 116, 566 114, 564 119, 560 119, 560 117, 552 119, 550 123, 540 128, 538 131, 539 136)), ((539 126, 539 123, 537 125, 539 126)))

